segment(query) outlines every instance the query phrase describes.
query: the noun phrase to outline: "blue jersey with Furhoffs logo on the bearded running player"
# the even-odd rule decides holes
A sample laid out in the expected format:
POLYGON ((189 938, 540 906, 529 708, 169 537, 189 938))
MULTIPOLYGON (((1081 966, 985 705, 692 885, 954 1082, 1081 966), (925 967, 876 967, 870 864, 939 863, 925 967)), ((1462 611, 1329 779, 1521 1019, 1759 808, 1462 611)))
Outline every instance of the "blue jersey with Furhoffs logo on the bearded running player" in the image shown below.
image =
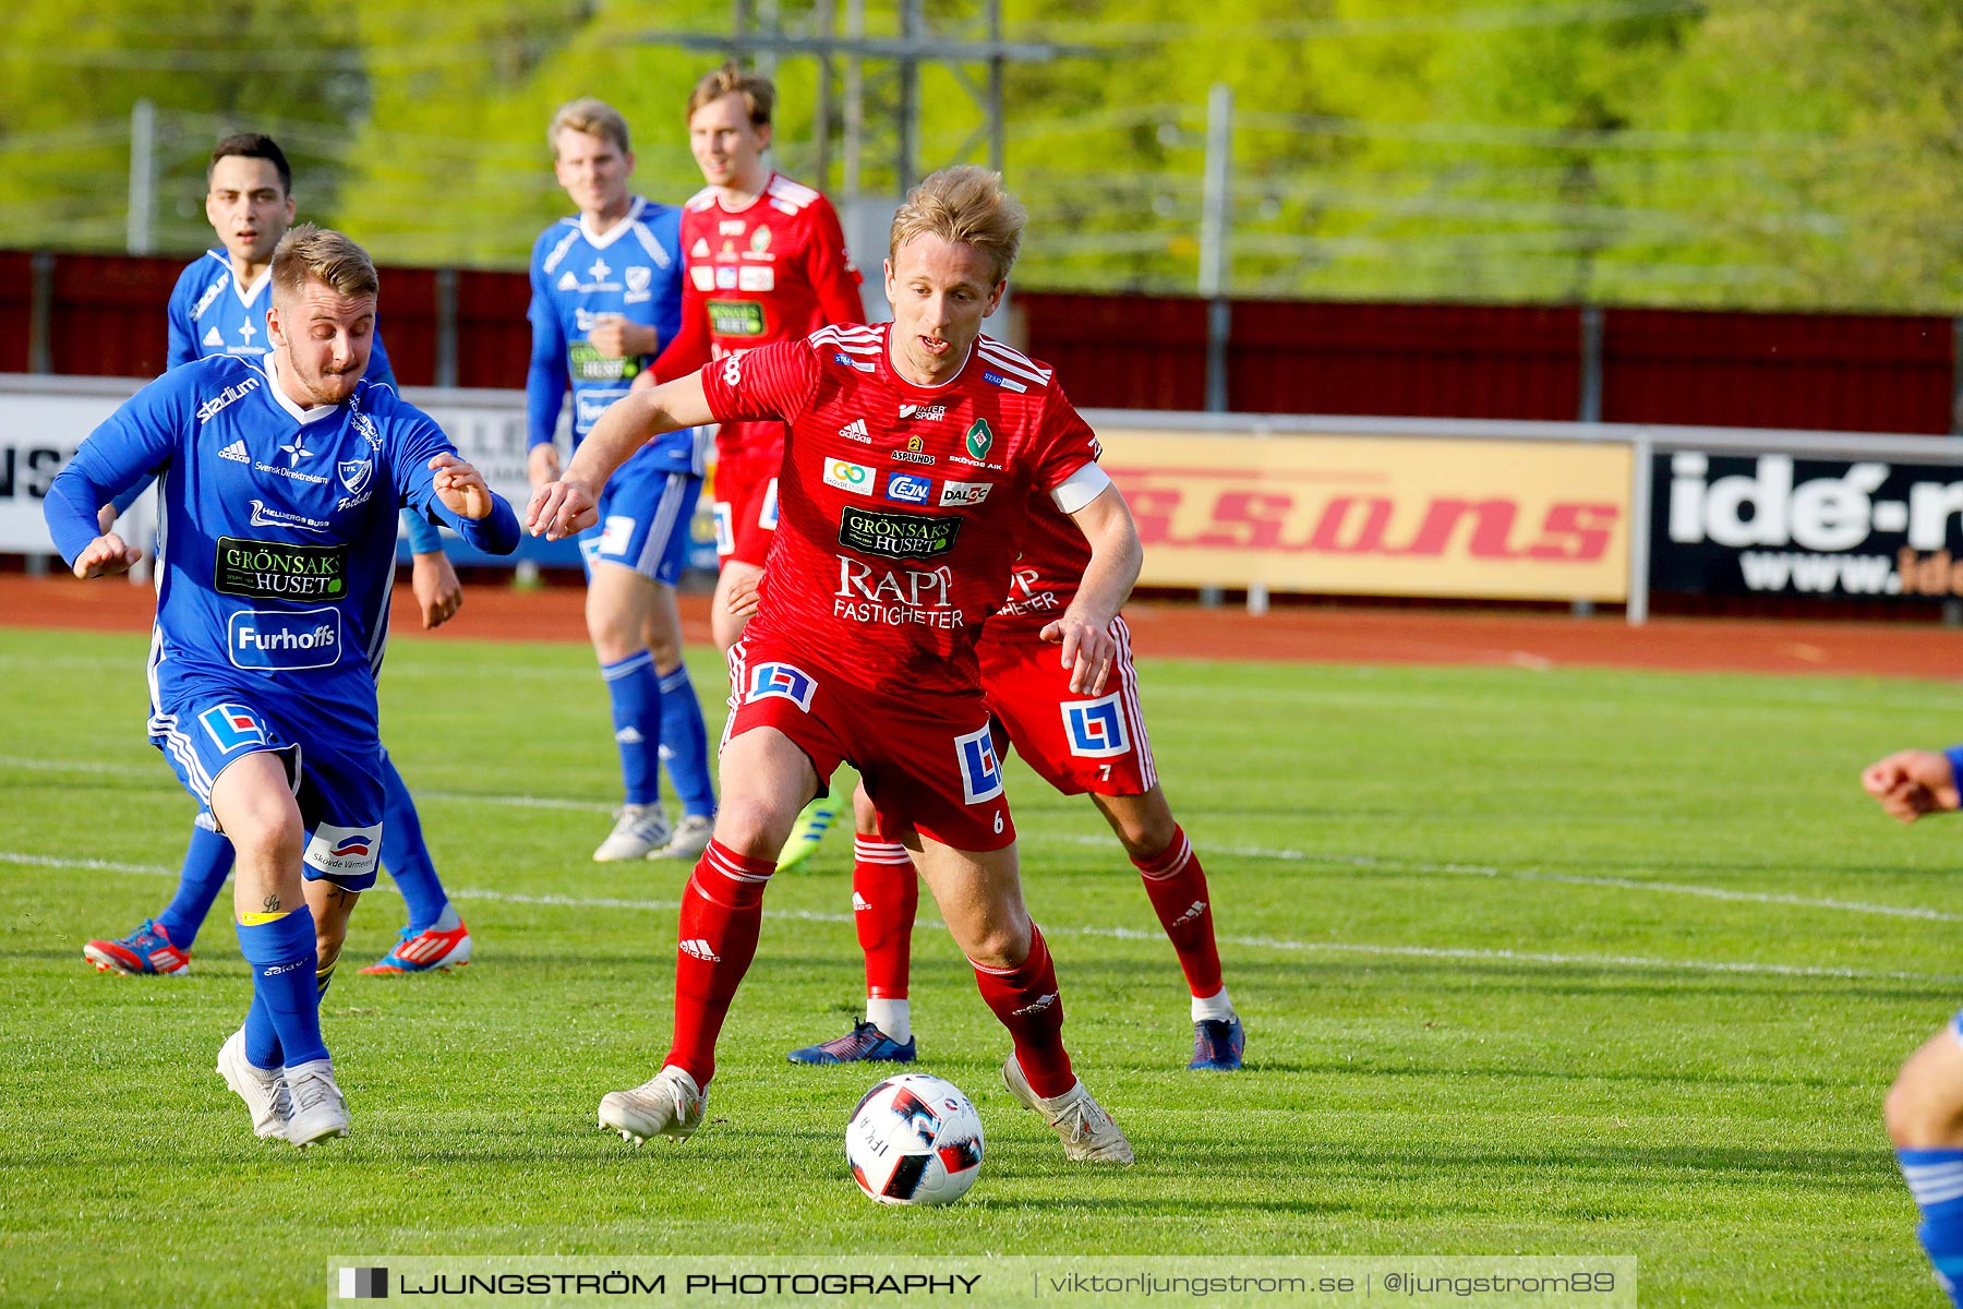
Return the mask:
POLYGON ((503 498, 483 520, 444 506, 438 453, 455 447, 393 387, 361 381, 345 404, 300 408, 273 355, 220 355, 171 369, 96 428, 49 489, 47 518, 73 563, 94 504, 155 469, 153 699, 285 693, 373 732, 397 508, 479 550, 518 544, 503 498))

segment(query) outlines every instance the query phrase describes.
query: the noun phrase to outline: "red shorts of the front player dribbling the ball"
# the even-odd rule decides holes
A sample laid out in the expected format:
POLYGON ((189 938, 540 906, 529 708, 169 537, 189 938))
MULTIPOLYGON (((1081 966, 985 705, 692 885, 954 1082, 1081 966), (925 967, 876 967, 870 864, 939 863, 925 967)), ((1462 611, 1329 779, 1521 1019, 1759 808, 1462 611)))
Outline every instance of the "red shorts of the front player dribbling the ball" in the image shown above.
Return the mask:
MULTIPOLYGON (((1054 655, 1052 655, 1054 657, 1054 655)), ((982 695, 885 695, 811 671, 795 650, 746 640, 730 650, 722 746, 777 728, 811 758, 819 785, 840 761, 866 779, 887 840, 913 830, 954 850, 1015 840, 1001 761, 982 695)))

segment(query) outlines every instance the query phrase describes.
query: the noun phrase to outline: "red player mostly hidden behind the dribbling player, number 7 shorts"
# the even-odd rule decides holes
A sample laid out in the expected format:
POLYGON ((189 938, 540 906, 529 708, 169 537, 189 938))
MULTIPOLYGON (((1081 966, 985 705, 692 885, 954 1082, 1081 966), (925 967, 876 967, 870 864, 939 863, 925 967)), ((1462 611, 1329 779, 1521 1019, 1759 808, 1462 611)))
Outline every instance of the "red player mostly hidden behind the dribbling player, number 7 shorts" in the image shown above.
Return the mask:
MULTIPOLYGON (((1056 667, 1040 640, 1042 626, 1076 599, 1088 563, 1084 534, 1046 497, 1031 500, 1009 595, 978 646, 995 748, 1013 746, 1064 795, 1089 793, 1139 869, 1186 973, 1194 1019, 1188 1068, 1233 1072, 1241 1068, 1247 1034, 1221 981, 1207 875, 1158 785, 1139 707, 1131 628, 1123 616, 1111 620, 1117 659, 1111 683, 1095 697, 1072 691, 1068 671, 1056 667)), ((742 591, 736 602, 742 606, 742 591)), ((866 1021, 836 1040, 793 1050, 793 1064, 907 1064, 915 1054, 907 973, 921 887, 907 848, 879 836, 883 824, 864 787, 854 811, 852 918, 866 952, 866 1021)))

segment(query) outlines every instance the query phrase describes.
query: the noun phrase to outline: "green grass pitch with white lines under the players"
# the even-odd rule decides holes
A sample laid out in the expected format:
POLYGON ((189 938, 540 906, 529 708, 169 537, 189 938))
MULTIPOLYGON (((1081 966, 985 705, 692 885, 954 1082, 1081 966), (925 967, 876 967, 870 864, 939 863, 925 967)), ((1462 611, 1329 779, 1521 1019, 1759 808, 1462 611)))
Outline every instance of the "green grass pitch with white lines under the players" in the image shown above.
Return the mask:
POLYGON ((1184 1070, 1135 873, 1015 765, 1066 1034, 1139 1166, 1062 1162, 923 922, 921 1068, 976 1099, 987 1158, 960 1205, 893 1211, 840 1148, 877 1073, 783 1060, 858 997, 838 836, 771 887, 713 1125, 593 1128, 665 1050, 685 869, 589 862, 618 779, 571 644, 391 652, 383 736, 479 954, 355 975, 400 924, 367 897, 326 1003, 353 1134, 253 1140, 212 1072, 247 1001, 226 920, 183 979, 80 958, 161 909, 192 812, 141 738, 143 650, 0 630, 4 1303, 318 1303, 338 1252, 722 1250, 1592 1252, 1639 1256, 1645 1305, 1937 1303, 1879 1107, 1963 1001, 1963 852, 1855 777, 1963 736, 1963 687, 1148 661, 1248 1066, 1184 1070))

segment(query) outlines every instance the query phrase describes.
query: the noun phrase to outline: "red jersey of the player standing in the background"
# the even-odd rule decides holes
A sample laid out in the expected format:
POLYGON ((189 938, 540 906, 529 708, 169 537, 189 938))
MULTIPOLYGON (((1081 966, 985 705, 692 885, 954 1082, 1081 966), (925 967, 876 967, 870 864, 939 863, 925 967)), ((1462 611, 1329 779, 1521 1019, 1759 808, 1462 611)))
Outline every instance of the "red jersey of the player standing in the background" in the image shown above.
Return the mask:
MULTIPOLYGON (((866 322, 860 271, 830 200, 777 173, 728 210, 715 186, 681 206, 681 330, 656 357, 662 381, 826 324, 866 322)), ((718 440, 724 451, 771 457, 783 430, 766 424, 718 440), (730 440, 734 438, 734 440, 730 440)))

